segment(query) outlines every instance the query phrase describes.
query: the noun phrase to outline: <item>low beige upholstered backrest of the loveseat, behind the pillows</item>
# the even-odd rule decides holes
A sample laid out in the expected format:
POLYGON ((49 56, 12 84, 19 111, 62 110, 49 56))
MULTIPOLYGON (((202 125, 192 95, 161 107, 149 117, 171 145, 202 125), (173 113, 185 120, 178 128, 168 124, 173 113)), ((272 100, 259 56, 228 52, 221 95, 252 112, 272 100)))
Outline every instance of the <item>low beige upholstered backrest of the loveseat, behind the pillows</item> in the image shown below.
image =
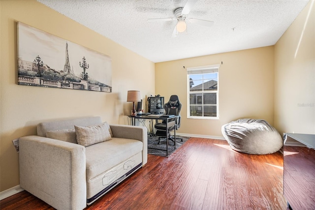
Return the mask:
POLYGON ((99 116, 42 122, 37 125, 37 136, 47 137, 46 136, 47 131, 74 129, 74 125, 89 126, 89 125, 97 125, 100 123, 102 123, 102 120, 99 116))

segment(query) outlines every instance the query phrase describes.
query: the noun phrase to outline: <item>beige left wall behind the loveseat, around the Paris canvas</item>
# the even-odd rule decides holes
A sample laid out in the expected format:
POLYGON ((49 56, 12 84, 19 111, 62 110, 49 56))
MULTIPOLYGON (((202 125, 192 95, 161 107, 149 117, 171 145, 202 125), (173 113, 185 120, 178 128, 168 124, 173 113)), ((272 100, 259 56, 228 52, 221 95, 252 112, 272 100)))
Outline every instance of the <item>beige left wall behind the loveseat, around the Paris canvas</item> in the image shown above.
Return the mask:
POLYGON ((18 153, 13 139, 36 134, 36 124, 50 119, 101 116, 109 123, 126 124, 124 114, 131 110, 131 103, 126 103, 127 90, 140 90, 143 99, 154 94, 155 65, 35 0, 1 0, 0 12, 0 191, 3 191, 19 184, 18 153), (109 55, 113 92, 17 85, 17 21, 109 55), (134 79, 134 75, 143 72, 146 79, 141 82, 134 79))

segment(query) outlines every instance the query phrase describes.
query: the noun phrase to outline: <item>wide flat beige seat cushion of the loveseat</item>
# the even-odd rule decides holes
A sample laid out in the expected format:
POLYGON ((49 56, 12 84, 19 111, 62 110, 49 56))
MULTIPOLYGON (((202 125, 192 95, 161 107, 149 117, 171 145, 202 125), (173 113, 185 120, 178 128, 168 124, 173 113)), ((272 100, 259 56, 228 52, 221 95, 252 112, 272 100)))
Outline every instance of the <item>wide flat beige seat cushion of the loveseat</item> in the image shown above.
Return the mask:
POLYGON ((139 140, 113 138, 85 147, 87 180, 104 173, 143 149, 139 140))

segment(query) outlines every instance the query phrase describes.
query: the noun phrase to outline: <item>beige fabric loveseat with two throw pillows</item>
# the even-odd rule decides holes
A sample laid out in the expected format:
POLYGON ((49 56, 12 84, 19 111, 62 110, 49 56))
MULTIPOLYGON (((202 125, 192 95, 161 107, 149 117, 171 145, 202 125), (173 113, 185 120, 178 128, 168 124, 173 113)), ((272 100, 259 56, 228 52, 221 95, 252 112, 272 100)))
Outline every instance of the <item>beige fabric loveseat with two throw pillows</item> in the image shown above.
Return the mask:
POLYGON ((82 210, 147 163, 147 130, 100 117, 43 122, 19 151, 23 189, 56 209, 82 210))

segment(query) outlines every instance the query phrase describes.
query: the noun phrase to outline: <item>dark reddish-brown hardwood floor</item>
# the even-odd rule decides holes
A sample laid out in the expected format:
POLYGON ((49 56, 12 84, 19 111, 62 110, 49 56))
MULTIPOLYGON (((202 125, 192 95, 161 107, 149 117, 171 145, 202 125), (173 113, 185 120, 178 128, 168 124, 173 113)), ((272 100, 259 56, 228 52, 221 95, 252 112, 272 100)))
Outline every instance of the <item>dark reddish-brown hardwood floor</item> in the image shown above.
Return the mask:
MULTIPOLYGON (((0 201, 1 210, 52 210, 23 191, 0 201)), ((249 155, 225 140, 190 138, 168 158, 147 165, 87 210, 286 210, 283 156, 249 155)))

